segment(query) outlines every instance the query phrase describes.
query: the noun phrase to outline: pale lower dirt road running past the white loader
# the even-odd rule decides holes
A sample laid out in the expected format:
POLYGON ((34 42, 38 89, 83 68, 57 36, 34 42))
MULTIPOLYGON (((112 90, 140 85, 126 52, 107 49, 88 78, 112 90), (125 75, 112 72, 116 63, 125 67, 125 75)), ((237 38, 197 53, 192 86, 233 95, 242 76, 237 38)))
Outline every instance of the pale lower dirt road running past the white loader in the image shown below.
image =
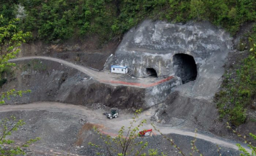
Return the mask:
MULTIPOLYGON (((92 111, 89 108, 86 108, 85 106, 76 106, 76 105, 62 104, 62 103, 56 103, 56 102, 36 102, 33 104, 25 104, 25 105, 0 106, 0 113, 8 112, 8 111, 35 111, 35 110, 66 112, 66 113, 70 113, 70 116, 72 116, 72 114, 76 114, 78 116, 81 116, 81 118, 86 117, 89 123, 102 125, 103 126, 102 130, 105 133, 111 133, 111 135, 117 135, 117 134, 114 134, 113 132, 118 132, 121 126, 128 127, 130 121, 132 121, 132 116, 133 116, 132 114, 121 113, 121 116, 119 116, 119 118, 115 118, 113 122, 113 120, 107 120, 106 116, 102 115, 102 113, 105 112, 102 109, 97 109, 92 111)), ((139 115, 139 118, 137 119, 137 121, 142 121, 143 119, 146 119, 146 121, 148 121, 146 124, 144 124, 144 127, 142 127, 142 129, 152 128, 150 124, 150 118, 152 115, 154 115, 154 112, 155 112, 154 108, 150 108, 148 111, 144 111, 139 115)), ((187 135, 191 137, 195 136, 195 133, 191 131, 178 130, 174 128, 160 127, 160 126, 156 126, 156 128, 160 129, 161 133, 164 133, 164 134, 174 133, 178 135, 187 135)), ((238 150, 238 147, 235 145, 235 143, 232 143, 232 141, 228 142, 222 139, 210 137, 208 135, 203 135, 200 133, 196 134, 196 138, 206 140, 210 143, 214 143, 217 145, 222 145, 224 147, 230 147, 235 150, 238 150)), ((252 152, 247 147, 246 149, 248 152, 252 152)))

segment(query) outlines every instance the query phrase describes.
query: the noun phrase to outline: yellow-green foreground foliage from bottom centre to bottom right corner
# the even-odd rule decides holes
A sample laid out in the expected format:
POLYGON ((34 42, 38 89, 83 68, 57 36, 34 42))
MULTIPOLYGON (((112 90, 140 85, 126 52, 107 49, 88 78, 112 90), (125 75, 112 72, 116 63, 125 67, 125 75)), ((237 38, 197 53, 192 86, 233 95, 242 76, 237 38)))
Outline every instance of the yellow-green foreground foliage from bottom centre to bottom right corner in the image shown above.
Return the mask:
MULTIPOLYGON (((127 128, 127 134, 125 133, 125 128, 124 126, 122 126, 122 128, 120 128, 119 130, 119 135, 117 135, 116 137, 114 136, 110 136, 110 135, 105 135, 103 134, 99 129, 94 127, 94 130, 100 135, 100 139, 102 140, 103 143, 105 143, 105 149, 107 149, 107 152, 102 153, 102 148, 104 148, 103 146, 94 144, 94 143, 88 143, 88 145, 95 147, 95 149, 97 149, 98 151, 101 152, 97 152, 97 155, 118 155, 118 156, 124 156, 124 155, 138 155, 138 156, 146 156, 146 155, 150 155, 150 156, 166 156, 164 155, 163 152, 159 153, 158 149, 149 149, 148 152, 142 152, 142 150, 145 149, 145 147, 147 146, 148 143, 144 143, 143 141, 139 141, 137 140, 137 136, 139 136, 139 127, 142 127, 144 123, 146 123, 145 120, 143 120, 142 122, 140 122, 137 126, 134 126, 134 123, 136 123, 136 119, 139 118, 139 113, 141 113, 142 110, 138 110, 136 111, 134 117, 132 118, 133 120, 130 122, 130 126, 127 128)), ((230 130, 233 130, 229 123, 227 123, 228 126, 227 128, 230 130)), ((183 151, 181 150, 181 148, 179 148, 176 143, 174 143, 174 140, 171 138, 168 138, 166 135, 164 135, 163 133, 161 133, 161 131, 159 129, 156 128, 156 126, 154 126, 153 123, 151 123, 151 126, 153 126, 154 130, 158 131, 160 133, 160 135, 164 138, 164 140, 169 141, 169 143, 171 143, 171 146, 173 146, 177 151, 178 154, 185 156, 185 154, 183 153, 183 151)), ((250 148, 250 150, 252 151, 251 153, 248 152, 248 148, 243 147, 240 144, 237 144, 238 149, 240 150, 240 152, 242 152, 242 156, 256 156, 256 147, 255 145, 252 145, 252 143, 250 143, 246 136, 242 136, 240 135, 240 133, 238 133, 236 130, 233 130, 233 133, 235 133, 235 135, 238 135, 238 137, 242 138, 243 140, 245 140, 245 144, 247 145, 247 147, 250 148)), ((256 140, 256 135, 249 133, 250 137, 252 137, 253 140, 256 140)), ((195 130, 195 137, 193 140, 191 140, 191 153, 189 155, 200 155, 203 156, 203 154, 200 152, 200 150, 198 150, 198 148, 196 147, 196 137, 197 137, 197 129, 195 130)), ((216 150, 218 152, 218 155, 221 155, 220 150, 221 147, 219 147, 218 145, 216 145, 216 150)))

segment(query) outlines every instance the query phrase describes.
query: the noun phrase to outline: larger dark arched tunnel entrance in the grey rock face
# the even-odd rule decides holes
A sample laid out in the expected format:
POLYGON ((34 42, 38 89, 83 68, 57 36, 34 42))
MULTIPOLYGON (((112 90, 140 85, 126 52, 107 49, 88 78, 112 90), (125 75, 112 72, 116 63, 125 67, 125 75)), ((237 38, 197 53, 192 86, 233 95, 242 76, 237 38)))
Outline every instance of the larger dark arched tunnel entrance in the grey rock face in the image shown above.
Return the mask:
POLYGON ((196 62, 191 55, 174 55, 175 75, 181 77, 182 83, 193 81, 197 76, 196 62))

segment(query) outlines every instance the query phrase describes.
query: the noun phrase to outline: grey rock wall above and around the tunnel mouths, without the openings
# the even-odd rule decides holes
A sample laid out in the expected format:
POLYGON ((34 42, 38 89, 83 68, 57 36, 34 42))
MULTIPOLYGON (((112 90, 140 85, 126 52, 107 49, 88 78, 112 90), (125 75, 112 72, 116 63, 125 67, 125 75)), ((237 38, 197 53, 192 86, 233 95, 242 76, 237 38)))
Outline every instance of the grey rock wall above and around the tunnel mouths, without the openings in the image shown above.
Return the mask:
POLYGON ((128 66, 131 74, 144 77, 146 68, 151 67, 159 77, 168 76, 175 73, 173 56, 177 53, 193 56, 199 69, 210 57, 230 48, 230 35, 208 22, 144 21, 124 36, 105 69, 110 65, 128 66))

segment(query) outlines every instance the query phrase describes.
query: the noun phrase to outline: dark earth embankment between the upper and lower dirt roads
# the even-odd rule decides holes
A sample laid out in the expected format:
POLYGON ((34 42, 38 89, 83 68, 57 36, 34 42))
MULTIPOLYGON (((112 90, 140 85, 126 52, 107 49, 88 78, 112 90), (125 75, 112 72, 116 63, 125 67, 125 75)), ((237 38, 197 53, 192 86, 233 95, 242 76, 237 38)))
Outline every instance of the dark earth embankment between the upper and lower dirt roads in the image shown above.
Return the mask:
POLYGON ((142 88, 102 84, 77 69, 48 60, 19 61, 9 79, 1 91, 31 89, 31 93, 24 94, 22 99, 11 98, 6 104, 60 101, 83 106, 92 104, 118 108, 144 106, 142 88))

